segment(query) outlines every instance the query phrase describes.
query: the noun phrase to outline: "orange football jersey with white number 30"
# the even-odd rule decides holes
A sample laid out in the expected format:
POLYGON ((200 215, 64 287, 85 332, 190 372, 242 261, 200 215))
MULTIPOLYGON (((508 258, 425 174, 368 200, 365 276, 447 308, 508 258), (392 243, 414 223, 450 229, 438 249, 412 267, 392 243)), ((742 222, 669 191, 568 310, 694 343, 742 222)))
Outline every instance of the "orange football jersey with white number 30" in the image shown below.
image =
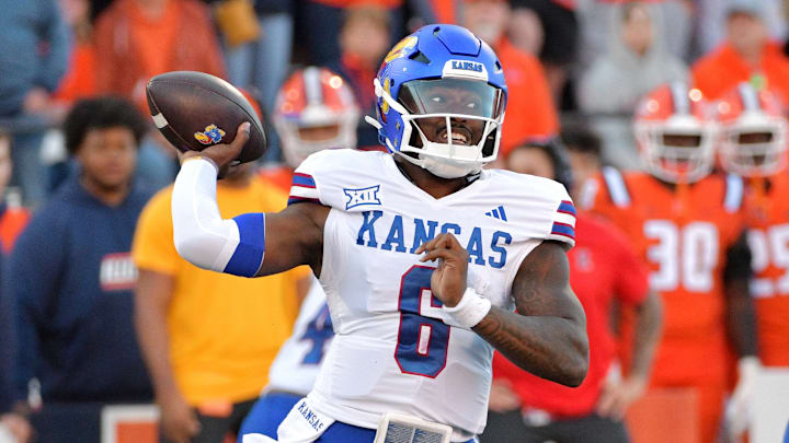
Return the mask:
POLYGON ((670 187, 644 173, 606 167, 584 194, 582 206, 627 233, 649 266, 651 289, 663 299, 653 384, 725 377, 723 269, 727 249, 744 232, 742 180, 711 175, 670 187))

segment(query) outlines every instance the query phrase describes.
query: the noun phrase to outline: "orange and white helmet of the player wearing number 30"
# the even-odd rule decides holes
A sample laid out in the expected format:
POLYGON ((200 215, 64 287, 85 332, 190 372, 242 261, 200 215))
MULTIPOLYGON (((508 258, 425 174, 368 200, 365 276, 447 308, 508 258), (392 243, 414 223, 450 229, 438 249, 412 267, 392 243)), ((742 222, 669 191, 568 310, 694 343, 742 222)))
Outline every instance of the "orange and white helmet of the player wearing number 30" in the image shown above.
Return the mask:
POLYGON ((701 91, 674 82, 647 94, 633 129, 643 167, 668 183, 694 183, 714 164, 714 123, 701 91))

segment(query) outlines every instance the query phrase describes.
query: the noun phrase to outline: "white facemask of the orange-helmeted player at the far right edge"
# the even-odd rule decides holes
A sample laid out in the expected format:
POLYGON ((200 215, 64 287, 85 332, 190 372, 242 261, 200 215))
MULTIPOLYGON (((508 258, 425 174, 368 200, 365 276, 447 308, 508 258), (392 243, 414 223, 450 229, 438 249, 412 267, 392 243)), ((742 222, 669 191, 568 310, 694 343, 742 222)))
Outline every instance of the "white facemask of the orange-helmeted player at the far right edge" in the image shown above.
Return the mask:
POLYGON ((745 114, 721 130, 721 161, 727 171, 764 177, 786 166, 787 124, 763 113, 745 114))

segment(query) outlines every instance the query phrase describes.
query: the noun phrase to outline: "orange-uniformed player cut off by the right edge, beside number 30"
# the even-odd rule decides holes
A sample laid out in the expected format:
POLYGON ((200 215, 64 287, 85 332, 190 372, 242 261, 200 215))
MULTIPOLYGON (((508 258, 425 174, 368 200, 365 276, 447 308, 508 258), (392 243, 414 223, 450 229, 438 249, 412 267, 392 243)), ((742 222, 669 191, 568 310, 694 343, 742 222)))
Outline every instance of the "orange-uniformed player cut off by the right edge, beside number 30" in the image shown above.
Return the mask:
MULTIPOLYGON (((758 355, 767 366, 789 368, 789 175, 787 121, 778 96, 741 83, 716 105, 721 165, 745 180, 745 214, 754 277, 751 295, 756 307, 758 355)), ((757 361, 742 371, 753 371, 757 361)), ((740 386, 727 408, 732 433, 748 424, 747 397, 740 386)))

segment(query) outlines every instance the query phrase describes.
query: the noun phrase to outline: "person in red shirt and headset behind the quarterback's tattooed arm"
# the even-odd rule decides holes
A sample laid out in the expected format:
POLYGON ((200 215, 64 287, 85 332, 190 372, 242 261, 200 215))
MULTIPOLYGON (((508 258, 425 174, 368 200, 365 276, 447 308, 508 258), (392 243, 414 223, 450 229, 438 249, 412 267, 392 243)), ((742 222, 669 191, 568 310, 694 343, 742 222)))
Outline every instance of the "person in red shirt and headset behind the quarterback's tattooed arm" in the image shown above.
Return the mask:
MULTIPOLYGON (((507 167, 570 185, 569 165, 556 142, 514 149, 507 167)), ((572 189, 575 194, 574 190, 572 189)), ((501 354, 493 357, 488 428, 482 442, 628 442, 621 417, 645 390, 660 338, 661 303, 649 291, 647 270, 627 237, 605 220, 579 212, 576 244, 568 253, 570 284, 586 313, 590 369, 578 388, 526 373, 501 354), (610 330, 613 304, 634 306, 637 335, 632 365, 624 378, 610 330)))

